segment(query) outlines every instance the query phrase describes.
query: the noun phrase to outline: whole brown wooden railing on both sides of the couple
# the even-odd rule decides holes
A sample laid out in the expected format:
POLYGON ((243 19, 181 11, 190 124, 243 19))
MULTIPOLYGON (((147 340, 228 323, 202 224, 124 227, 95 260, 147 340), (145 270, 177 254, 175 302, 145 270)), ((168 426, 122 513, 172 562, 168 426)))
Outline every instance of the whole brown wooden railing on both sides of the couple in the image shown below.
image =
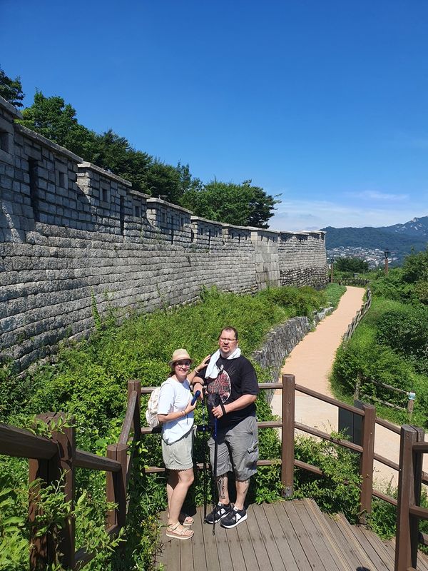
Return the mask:
MULTIPOLYGON (((261 459, 258 465, 273 465, 280 463, 281 481, 283 485, 283 495, 291 497, 293 495, 294 469, 300 468, 311 473, 322 476, 322 470, 317 466, 310 465, 294 458, 294 433, 295 429, 304 433, 314 435, 317 438, 329 440, 341 445, 355 453, 360 454, 360 522, 365 523, 366 517, 372 510, 372 497, 398 505, 397 515, 397 552, 395 571, 408 571, 409 557, 414 563, 414 545, 417 545, 417 518, 427 517, 428 510, 423 510, 418 506, 420 499, 420 488, 422 483, 428 484, 428 475, 422 472, 422 462, 413 460, 417 453, 428 451, 428 444, 423 442, 423 433, 420 429, 412 427, 402 427, 402 445, 399 465, 388 458, 374 453, 374 433, 376 425, 394 433, 400 433, 399 428, 388 423, 386 420, 376 418, 373 405, 363 405, 362 409, 355 408, 339 400, 335 400, 327 395, 322 395, 302 385, 295 384, 294 375, 283 375, 282 383, 260 383, 263 390, 282 390, 282 420, 259 422, 258 428, 280 428, 282 436, 281 458, 261 459), (362 445, 357 445, 349 440, 334 438, 328 433, 322 432, 295 421, 295 392, 305 393, 313 398, 322 400, 348 410, 362 418, 362 445), (412 446, 409 448, 409 442, 412 446), (410 459, 410 460, 409 460, 410 459), (399 499, 395 500, 374 490, 373 488, 373 465, 377 460, 389 468, 399 470, 399 499), (419 462, 419 463, 418 463, 419 462), (411 470, 410 473, 408 470, 411 470), (413 483, 412 483, 413 482, 413 483), (413 519, 412 519, 413 518, 413 519), (410 543, 409 543, 410 538, 410 543), (411 545, 411 547, 408 547, 411 545), (404 555, 402 552, 404 551, 404 555), (402 561, 405 560, 403 567, 402 561), (401 566, 400 566, 401 565, 401 566)), ((116 503, 116 509, 108 512, 106 517, 106 527, 109 535, 113 536, 125 525, 126 522, 126 487, 132 465, 132 458, 128 455, 128 440, 133 430, 133 440, 139 440, 142 435, 158 432, 151 428, 141 428, 141 393, 151 393, 153 387, 141 388, 141 383, 136 380, 128 382, 128 408, 123 420, 121 435, 118 443, 107 448, 107 456, 97 456, 83 450, 76 449, 75 431, 73 426, 63 428, 61 432, 52 433, 51 439, 35 436, 26 430, 14 428, 0 424, 0 454, 29 458, 29 480, 34 481, 41 478, 44 482, 54 482, 63 475, 64 492, 66 500, 73 505, 75 497, 75 469, 89 468, 91 470, 105 470, 106 477, 106 499, 116 503)), ((57 420, 63 413, 48 413, 40 418, 45 422, 57 420)), ((72 420, 72 419, 71 419, 72 420)), ((198 429, 205 427, 198 427, 198 429)), ((198 464, 202 469, 203 464, 198 464)), ((165 468, 151 466, 146 467, 146 473, 162 472, 165 468)), ((34 520, 36 516, 37 490, 32 492, 30 497, 29 517, 34 520)), ((424 538, 423 538, 424 539, 424 538)), ((425 538, 426 539, 426 538, 425 538)), ((54 545, 48 535, 44 537, 31 537, 31 562, 30 569, 36 570, 43 565, 48 565, 54 560, 54 545)), ((427 541, 428 544, 428 541, 427 541)), ((417 547, 416 547, 417 549, 417 547)), ((61 563, 63 567, 80 570, 96 554, 87 553, 84 550, 75 550, 75 534, 73 518, 68 518, 66 525, 61 531, 58 551, 63 554, 61 563)), ((414 565, 416 567, 416 565, 414 565)))

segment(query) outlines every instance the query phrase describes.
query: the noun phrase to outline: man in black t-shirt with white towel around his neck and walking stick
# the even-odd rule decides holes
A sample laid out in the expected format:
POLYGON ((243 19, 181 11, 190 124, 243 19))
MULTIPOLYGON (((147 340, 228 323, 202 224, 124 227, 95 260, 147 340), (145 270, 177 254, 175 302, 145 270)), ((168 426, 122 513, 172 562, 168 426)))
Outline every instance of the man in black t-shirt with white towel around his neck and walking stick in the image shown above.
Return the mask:
MULTIPOLYGON (((250 361, 240 354, 238 331, 226 327, 218 338, 218 350, 195 368, 193 391, 206 388, 210 426, 217 419, 218 505, 205 517, 207 523, 221 522, 235 527, 247 519, 244 507, 250 477, 257 471, 258 435, 255 400, 258 380, 250 361), (236 477, 236 502, 232 507, 228 495, 228 472, 236 477)), ((215 440, 208 441, 211 466, 214 466, 215 440)))

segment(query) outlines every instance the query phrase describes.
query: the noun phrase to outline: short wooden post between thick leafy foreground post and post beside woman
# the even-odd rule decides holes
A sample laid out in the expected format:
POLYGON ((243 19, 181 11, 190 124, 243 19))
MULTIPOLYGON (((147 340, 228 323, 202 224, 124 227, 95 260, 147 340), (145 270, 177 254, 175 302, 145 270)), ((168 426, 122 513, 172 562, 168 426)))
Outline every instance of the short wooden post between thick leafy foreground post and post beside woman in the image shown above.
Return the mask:
POLYGON ((123 527, 126 520, 126 464, 128 447, 125 444, 111 444, 107 447, 107 458, 121 463, 121 470, 108 472, 106 475, 106 499, 117 504, 116 510, 109 510, 106 518, 107 527, 118 525, 123 527))

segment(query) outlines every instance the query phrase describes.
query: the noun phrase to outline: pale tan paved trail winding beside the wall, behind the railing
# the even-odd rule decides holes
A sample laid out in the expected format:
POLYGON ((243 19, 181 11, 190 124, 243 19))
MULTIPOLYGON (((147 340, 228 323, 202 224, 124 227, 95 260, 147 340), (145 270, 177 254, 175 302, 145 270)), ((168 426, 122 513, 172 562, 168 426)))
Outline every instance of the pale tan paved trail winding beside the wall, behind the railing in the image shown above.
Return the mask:
MULTIPOLYGON (((362 305, 365 290, 348 287, 342 295, 339 307, 322 320, 314 331, 308 333, 287 357, 282 374, 295 375, 296 383, 333 396, 328 378, 335 359, 335 352, 342 342, 342 335, 362 305)), ((281 415, 281 390, 272 398, 272 411, 281 415)), ((310 396, 296 393, 295 420, 299 423, 332 432, 338 430, 338 409, 310 396)), ((399 435, 376 425, 374 451, 395 463, 399 459, 399 435)), ((428 472, 428 455, 425 455, 424 470, 428 472)), ((398 483, 397 470, 374 462, 374 480, 378 484, 398 483)))

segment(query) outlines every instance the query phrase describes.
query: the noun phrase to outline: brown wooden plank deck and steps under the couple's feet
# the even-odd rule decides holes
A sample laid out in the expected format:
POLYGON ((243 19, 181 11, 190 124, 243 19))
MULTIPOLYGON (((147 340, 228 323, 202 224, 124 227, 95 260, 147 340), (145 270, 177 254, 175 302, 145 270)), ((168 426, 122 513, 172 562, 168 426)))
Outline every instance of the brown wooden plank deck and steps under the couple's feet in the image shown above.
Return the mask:
MULTIPOLYGON (((394 571, 394 542, 382 541, 345 517, 323 514, 313 500, 251 505, 248 520, 232 530, 193 516, 195 535, 165 536, 156 562, 165 571, 394 571)), ((419 553, 419 571, 428 557, 419 553)))

